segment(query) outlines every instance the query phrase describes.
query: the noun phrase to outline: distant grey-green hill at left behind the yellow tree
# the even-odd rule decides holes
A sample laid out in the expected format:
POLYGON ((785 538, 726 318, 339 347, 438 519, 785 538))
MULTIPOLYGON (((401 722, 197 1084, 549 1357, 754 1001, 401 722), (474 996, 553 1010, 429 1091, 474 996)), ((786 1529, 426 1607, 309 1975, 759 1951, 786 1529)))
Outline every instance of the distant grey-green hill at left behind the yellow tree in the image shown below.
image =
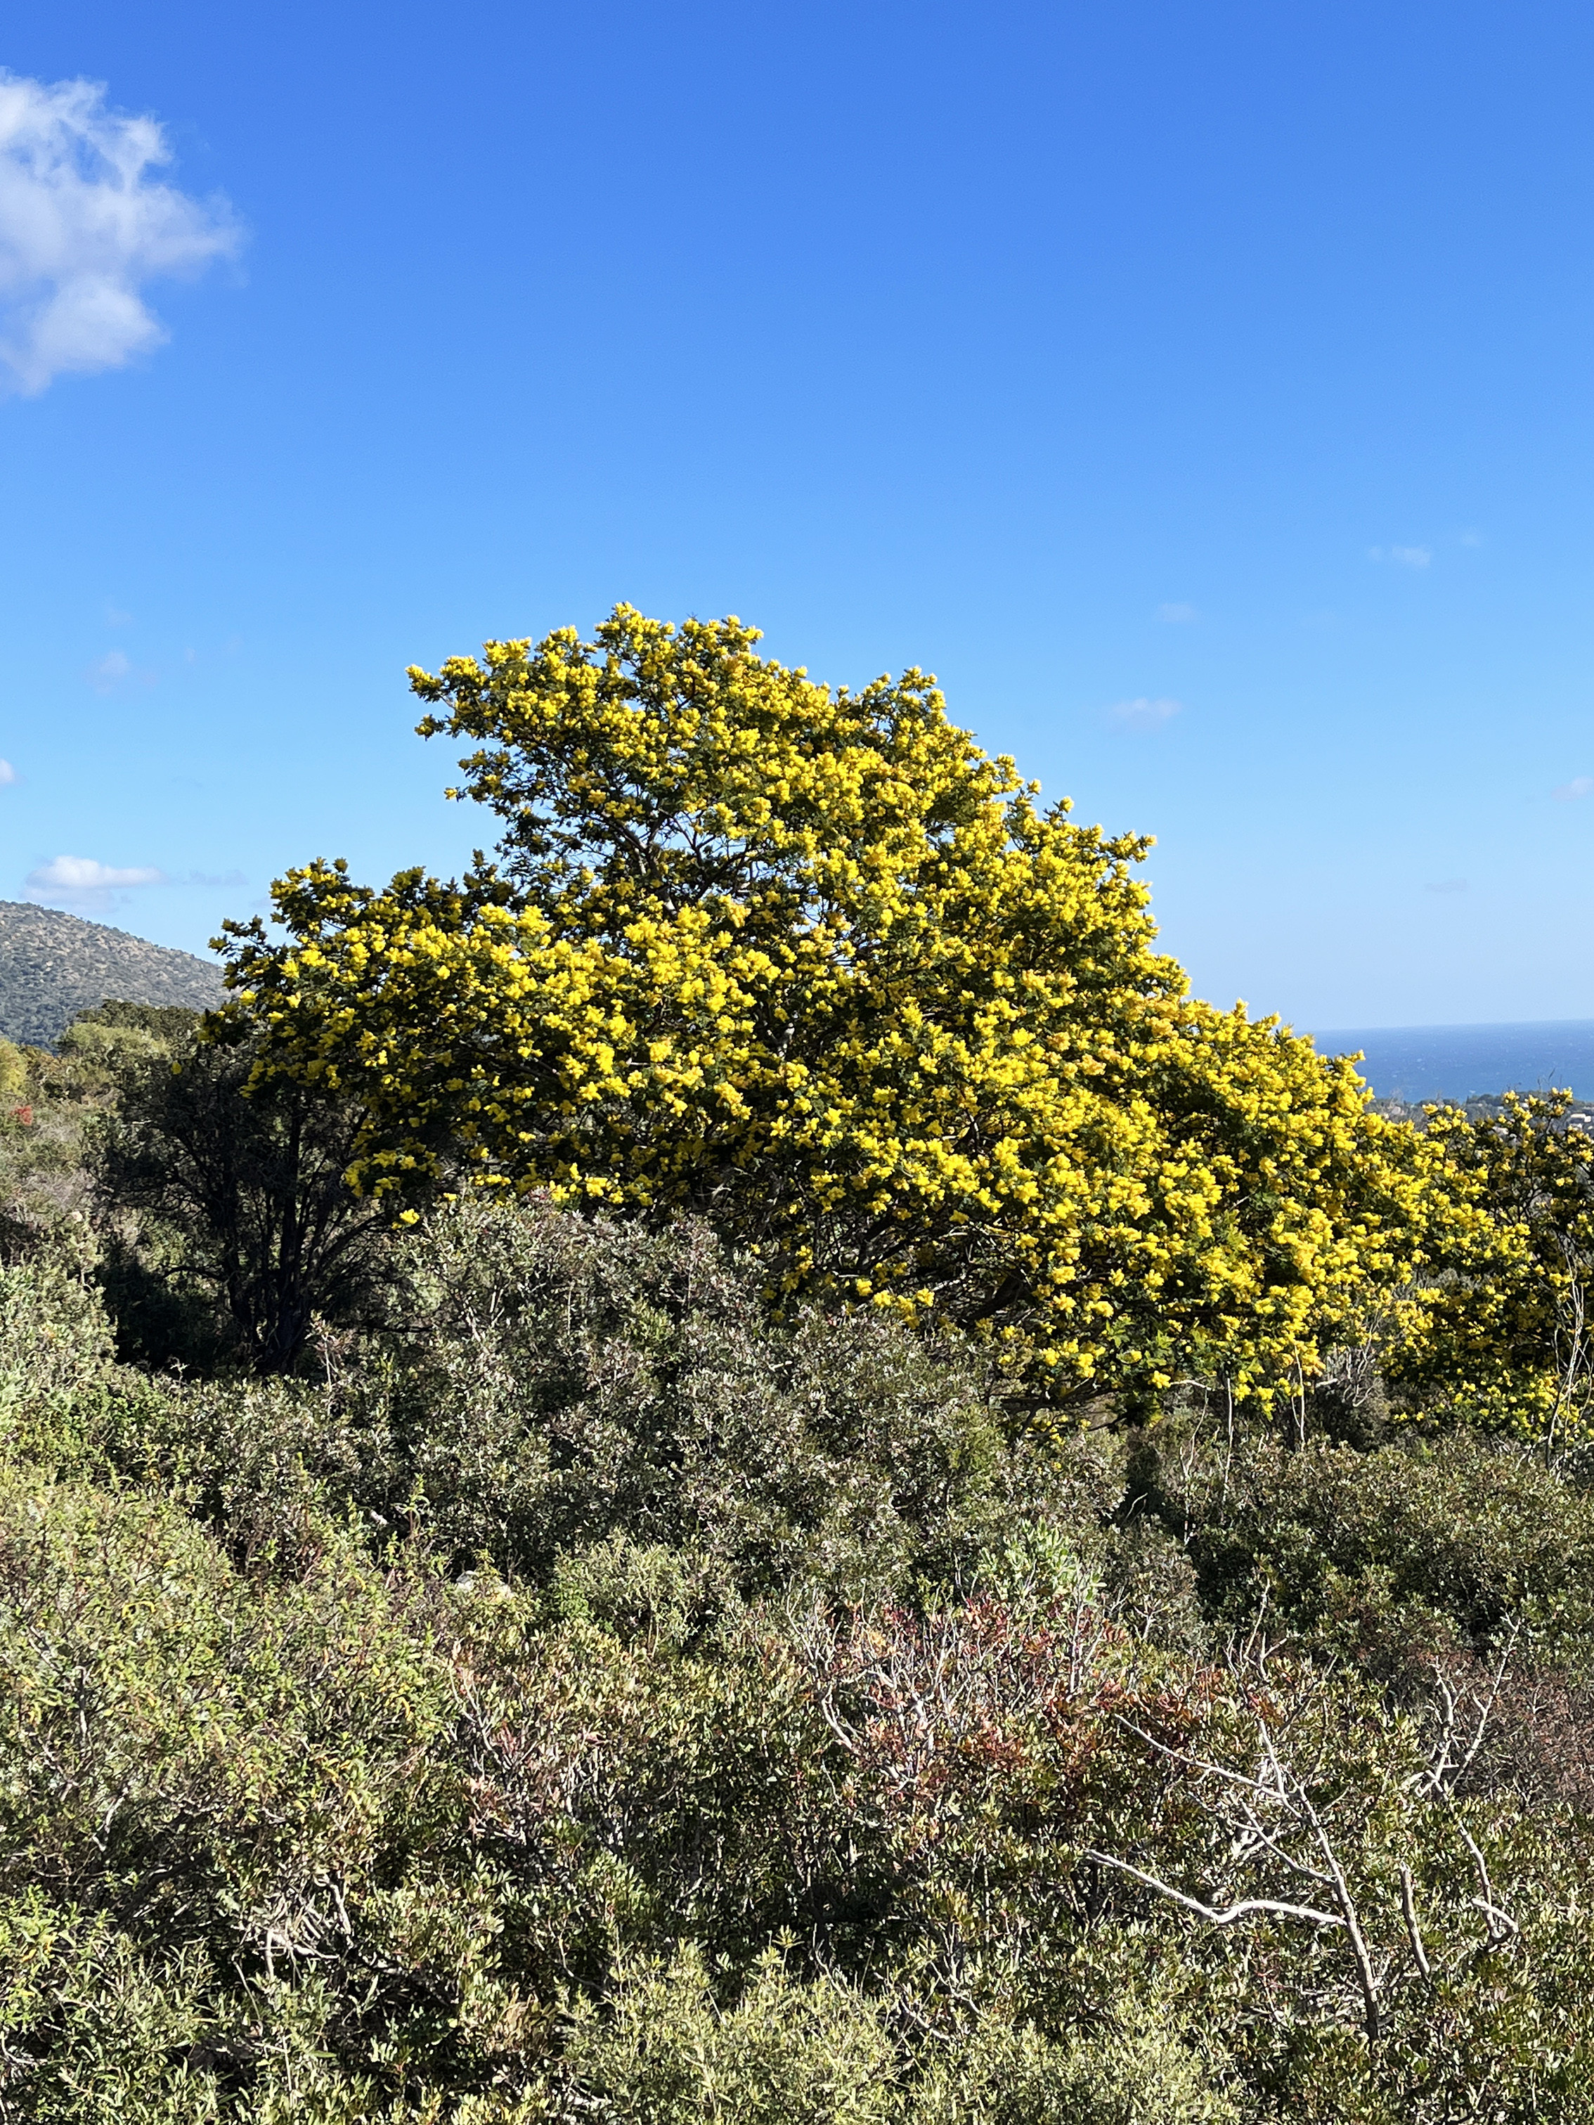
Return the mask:
POLYGON ((49 1046, 66 1022, 115 997, 121 1003, 221 1001, 221 973, 191 952, 130 937, 30 901, 0 901, 0 1033, 49 1046))

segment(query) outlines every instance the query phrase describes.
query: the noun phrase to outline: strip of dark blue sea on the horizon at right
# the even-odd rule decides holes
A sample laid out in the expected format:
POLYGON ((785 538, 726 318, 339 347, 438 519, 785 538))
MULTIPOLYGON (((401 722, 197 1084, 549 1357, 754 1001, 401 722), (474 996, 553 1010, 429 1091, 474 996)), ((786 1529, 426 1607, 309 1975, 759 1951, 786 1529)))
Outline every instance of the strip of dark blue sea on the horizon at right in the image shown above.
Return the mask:
POLYGON ((1354 1054, 1379 1099, 1471 1099, 1564 1086, 1594 1099, 1594 1018, 1526 1026, 1369 1026, 1313 1033, 1322 1054, 1354 1054))

